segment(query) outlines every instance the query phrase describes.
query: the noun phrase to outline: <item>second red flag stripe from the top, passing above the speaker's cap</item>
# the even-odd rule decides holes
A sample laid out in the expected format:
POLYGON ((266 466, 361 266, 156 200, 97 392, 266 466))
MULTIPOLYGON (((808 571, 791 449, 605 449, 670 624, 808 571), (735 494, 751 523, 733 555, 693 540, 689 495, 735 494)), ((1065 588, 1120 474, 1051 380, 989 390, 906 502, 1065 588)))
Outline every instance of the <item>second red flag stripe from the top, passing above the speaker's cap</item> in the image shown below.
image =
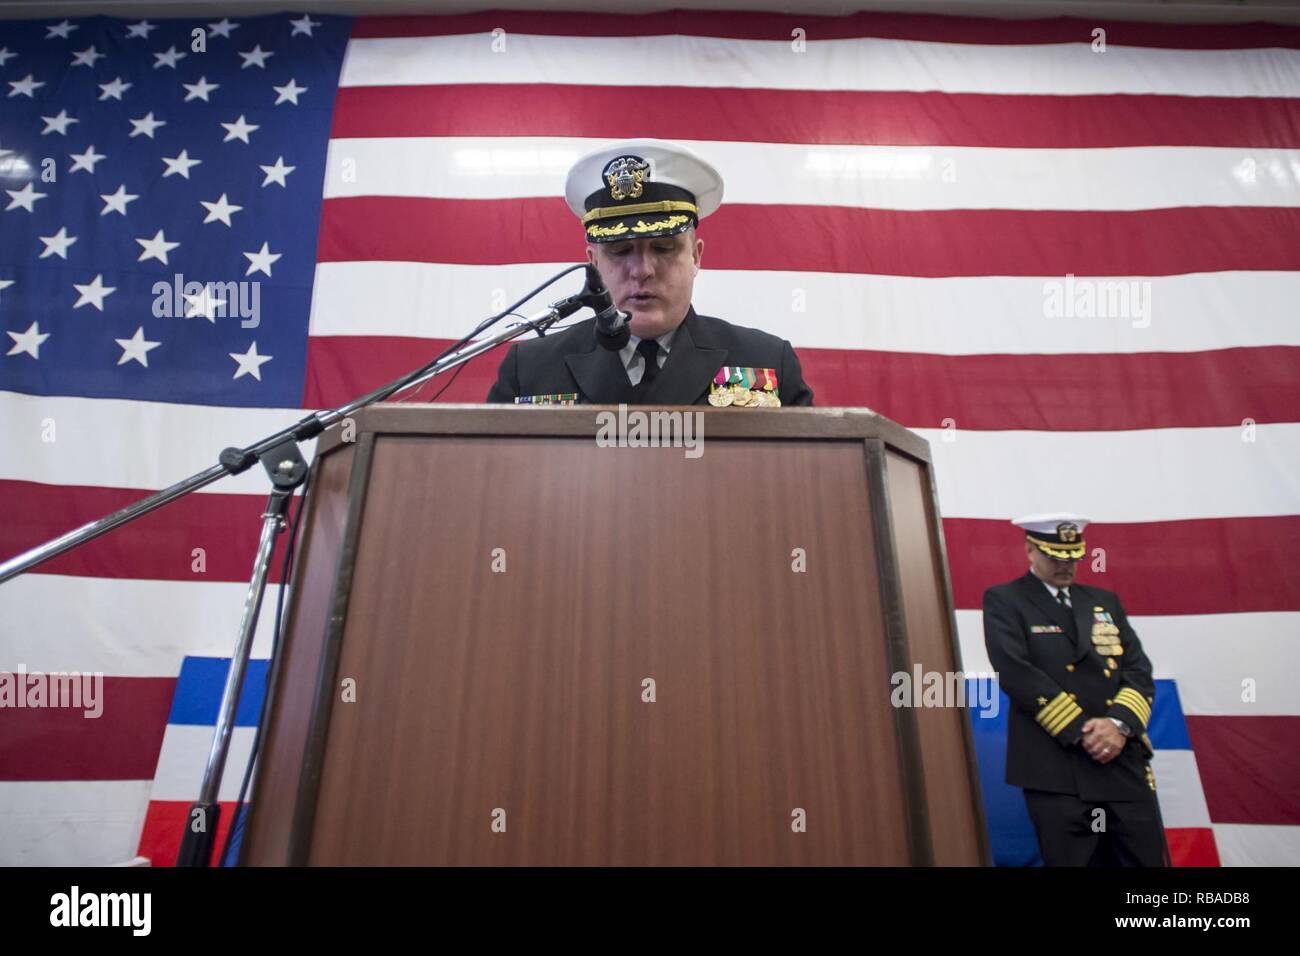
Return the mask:
POLYGON ((338 91, 330 135, 1288 150, 1300 147, 1300 100, 517 83, 352 86, 338 91), (637 103, 634 111, 627 109, 629 100, 637 103))

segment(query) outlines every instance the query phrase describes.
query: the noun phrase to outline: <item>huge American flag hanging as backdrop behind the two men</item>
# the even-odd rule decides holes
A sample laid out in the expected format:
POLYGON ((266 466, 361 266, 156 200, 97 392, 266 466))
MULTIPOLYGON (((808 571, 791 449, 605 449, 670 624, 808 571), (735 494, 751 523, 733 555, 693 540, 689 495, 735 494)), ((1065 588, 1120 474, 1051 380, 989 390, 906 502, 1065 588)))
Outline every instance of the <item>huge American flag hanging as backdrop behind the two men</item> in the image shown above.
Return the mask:
MULTIPOLYGON (((1121 594, 1160 679, 1175 861, 1300 862, 1295 27, 0 22, 0 557, 395 377, 581 260, 564 174, 630 137, 725 178, 696 308, 790 339, 818 405, 930 440, 966 670, 989 670, 984 588, 1024 571, 1008 520, 1091 516, 1080 580, 1121 594)), ((438 401, 482 401, 499 355, 438 401)), ((172 861, 265 484, 0 585, 0 671, 107 675, 98 719, 0 709, 0 862, 172 861)), ((1031 862, 979 724, 994 853, 1031 862)))

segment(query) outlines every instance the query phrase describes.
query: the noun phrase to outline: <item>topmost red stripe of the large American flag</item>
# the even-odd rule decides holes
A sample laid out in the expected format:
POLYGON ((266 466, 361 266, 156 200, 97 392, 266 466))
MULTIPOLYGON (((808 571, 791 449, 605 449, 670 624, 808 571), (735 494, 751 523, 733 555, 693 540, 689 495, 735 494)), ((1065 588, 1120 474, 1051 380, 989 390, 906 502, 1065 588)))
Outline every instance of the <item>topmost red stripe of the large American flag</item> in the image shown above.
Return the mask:
POLYGON ((1108 46, 1162 49, 1300 48, 1300 29, 1278 23, 1135 23, 1115 20, 993 20, 924 13, 854 13, 846 17, 671 10, 666 13, 546 13, 489 10, 458 16, 359 17, 352 39, 448 36, 458 34, 534 34, 541 36, 714 36, 740 40, 792 40, 796 30, 810 43, 832 39, 890 39, 989 46, 1093 42, 1105 30, 1108 46))

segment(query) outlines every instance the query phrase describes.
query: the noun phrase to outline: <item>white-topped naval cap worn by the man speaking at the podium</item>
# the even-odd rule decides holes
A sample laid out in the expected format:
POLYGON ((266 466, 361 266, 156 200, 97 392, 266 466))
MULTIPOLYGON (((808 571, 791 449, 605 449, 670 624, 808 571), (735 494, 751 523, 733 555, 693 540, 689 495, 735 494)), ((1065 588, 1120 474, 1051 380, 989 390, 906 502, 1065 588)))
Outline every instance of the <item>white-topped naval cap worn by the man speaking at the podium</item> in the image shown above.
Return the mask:
POLYGON ((625 139, 586 153, 569 169, 564 200, 588 242, 651 239, 698 225, 723 200, 723 177, 663 139, 625 139))

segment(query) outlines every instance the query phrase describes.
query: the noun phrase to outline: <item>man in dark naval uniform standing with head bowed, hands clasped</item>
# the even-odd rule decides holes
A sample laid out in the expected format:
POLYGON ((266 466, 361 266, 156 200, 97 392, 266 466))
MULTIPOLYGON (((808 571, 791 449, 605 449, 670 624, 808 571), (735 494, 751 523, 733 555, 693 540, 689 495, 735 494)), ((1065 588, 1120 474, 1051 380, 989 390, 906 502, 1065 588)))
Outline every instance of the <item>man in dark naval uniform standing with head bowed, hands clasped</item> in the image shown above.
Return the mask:
POLYGON ((1152 666, 1118 596, 1078 584, 1078 515, 1032 515, 1030 570, 984 592, 984 643, 1011 700, 1006 782, 1048 866, 1166 866, 1147 735, 1152 666))

